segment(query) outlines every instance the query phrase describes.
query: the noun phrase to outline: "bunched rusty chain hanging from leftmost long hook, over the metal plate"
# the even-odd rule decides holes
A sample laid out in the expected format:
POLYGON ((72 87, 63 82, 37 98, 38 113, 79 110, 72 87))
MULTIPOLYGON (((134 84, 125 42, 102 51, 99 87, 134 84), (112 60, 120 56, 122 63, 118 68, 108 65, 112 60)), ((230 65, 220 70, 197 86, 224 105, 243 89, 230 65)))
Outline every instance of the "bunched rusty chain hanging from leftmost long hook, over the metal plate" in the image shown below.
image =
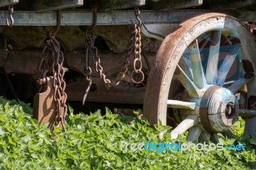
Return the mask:
MULTIPOLYGON (((61 52, 60 43, 56 40, 55 35, 60 29, 61 13, 57 13, 57 28, 55 31, 48 31, 48 38, 46 45, 41 54, 41 61, 39 71, 41 73, 38 84, 43 85, 46 82, 46 75, 53 76, 52 86, 54 88, 54 102, 56 104, 56 123, 61 123, 61 127, 65 130, 65 116, 67 114, 67 94, 65 93, 66 83, 63 80, 65 71, 63 68, 64 56, 61 52), (46 53, 46 55, 44 55, 46 53)), ((40 91, 42 90, 42 86, 40 91)))

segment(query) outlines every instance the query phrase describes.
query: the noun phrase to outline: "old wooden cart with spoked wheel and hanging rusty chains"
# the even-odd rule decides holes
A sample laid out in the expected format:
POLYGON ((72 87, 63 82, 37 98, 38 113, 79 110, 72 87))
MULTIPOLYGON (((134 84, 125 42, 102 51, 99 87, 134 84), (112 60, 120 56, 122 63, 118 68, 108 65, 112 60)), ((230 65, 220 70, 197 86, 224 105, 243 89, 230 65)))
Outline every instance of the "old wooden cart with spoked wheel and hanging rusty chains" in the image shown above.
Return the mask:
POLYGON ((86 91, 86 101, 143 104, 152 123, 175 120, 173 138, 189 130, 189 141, 215 141, 217 133, 232 135, 238 116, 244 134, 255 136, 255 5, 0 1, 1 95, 12 89, 14 97, 33 98, 44 84, 34 103, 40 122, 63 123, 65 100, 80 101, 86 91), (5 18, 13 20, 6 26, 5 18))

